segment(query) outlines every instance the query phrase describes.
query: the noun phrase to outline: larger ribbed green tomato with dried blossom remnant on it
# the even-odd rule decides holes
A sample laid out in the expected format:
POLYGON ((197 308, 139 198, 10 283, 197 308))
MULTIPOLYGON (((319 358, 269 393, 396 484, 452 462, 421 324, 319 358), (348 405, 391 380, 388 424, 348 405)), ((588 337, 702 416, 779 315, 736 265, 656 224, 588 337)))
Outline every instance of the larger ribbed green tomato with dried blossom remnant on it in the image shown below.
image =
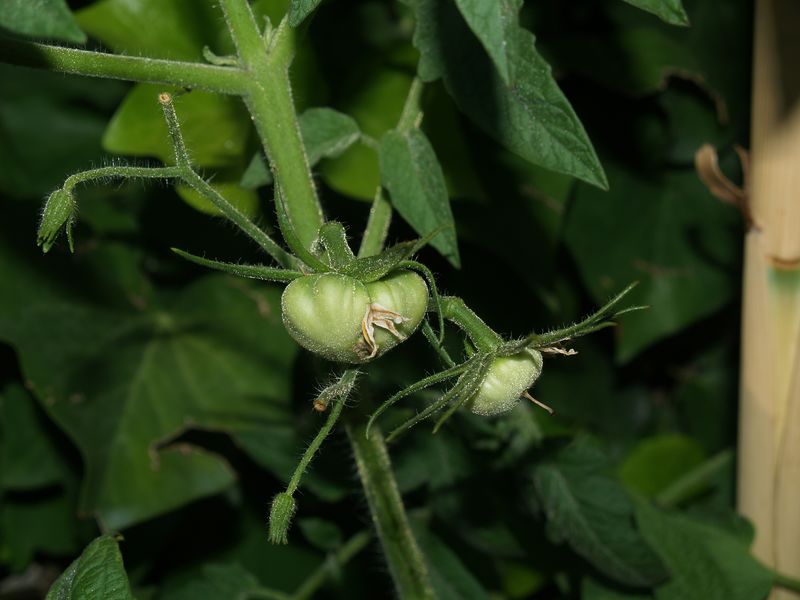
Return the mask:
POLYGON ((411 335, 428 308, 428 286, 411 271, 361 283, 337 273, 306 275, 283 292, 287 331, 329 360, 364 363, 411 335))

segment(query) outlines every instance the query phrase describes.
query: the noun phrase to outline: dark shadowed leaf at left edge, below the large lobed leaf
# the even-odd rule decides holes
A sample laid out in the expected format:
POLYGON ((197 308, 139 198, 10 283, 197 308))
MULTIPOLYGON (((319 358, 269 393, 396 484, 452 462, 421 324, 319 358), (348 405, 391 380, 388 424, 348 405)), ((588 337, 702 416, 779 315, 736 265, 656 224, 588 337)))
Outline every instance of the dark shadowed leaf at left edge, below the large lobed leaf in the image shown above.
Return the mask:
POLYGON ((35 400, 20 385, 0 396, 0 489, 35 489, 58 483, 64 463, 44 429, 35 400))

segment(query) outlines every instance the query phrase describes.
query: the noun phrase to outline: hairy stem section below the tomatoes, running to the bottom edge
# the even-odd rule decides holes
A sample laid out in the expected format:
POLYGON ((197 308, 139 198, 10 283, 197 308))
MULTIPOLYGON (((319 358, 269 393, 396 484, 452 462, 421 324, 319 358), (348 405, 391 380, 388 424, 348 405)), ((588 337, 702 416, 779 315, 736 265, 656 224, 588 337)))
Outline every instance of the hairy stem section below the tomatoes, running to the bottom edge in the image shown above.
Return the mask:
POLYGON ((408 523, 383 435, 373 426, 367 437, 363 421, 346 421, 346 430, 398 596, 408 600, 436 598, 425 558, 408 523))

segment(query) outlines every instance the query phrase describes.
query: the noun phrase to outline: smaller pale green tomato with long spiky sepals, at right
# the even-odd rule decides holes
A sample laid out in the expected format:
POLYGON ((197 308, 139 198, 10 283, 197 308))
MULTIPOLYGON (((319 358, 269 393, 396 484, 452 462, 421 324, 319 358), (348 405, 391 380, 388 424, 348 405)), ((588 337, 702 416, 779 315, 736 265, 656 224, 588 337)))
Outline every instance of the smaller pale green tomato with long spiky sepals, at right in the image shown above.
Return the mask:
POLYGON ((467 408, 484 417, 508 412, 541 372, 542 354, 537 350, 496 358, 467 408))

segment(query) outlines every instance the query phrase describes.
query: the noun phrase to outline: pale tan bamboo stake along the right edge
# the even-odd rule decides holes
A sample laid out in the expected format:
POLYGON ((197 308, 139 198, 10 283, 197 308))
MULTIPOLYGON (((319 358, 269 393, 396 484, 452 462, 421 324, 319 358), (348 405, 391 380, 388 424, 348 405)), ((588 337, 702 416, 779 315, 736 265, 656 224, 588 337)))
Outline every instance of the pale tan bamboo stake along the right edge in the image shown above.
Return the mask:
MULTIPOLYGON (((800 3, 757 0, 745 238, 739 510, 754 553, 800 576, 800 3)), ((774 592, 772 600, 796 600, 774 592)))

